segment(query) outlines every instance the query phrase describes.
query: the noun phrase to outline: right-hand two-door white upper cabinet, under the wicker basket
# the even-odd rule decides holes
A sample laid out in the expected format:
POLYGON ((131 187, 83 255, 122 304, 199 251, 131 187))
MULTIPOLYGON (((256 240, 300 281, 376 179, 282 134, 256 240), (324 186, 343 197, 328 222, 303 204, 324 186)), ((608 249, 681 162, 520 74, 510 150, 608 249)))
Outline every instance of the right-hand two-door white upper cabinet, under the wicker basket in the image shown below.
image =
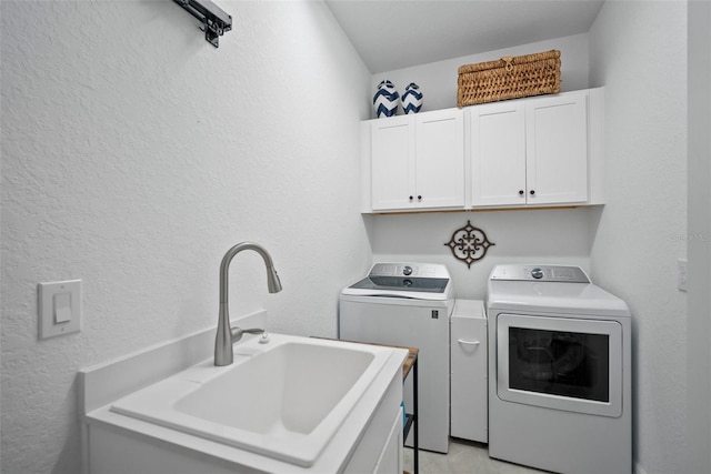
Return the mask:
POLYGON ((589 201, 587 91, 468 113, 472 208, 589 201))

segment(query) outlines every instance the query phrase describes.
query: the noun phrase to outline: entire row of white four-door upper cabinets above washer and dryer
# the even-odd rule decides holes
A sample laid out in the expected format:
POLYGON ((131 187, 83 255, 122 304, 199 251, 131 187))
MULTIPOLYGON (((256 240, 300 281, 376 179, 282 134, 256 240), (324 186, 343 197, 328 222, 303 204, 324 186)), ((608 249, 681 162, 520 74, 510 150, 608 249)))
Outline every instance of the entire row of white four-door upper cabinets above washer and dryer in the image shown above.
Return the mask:
POLYGON ((603 203, 603 89, 362 122, 362 212, 603 203))

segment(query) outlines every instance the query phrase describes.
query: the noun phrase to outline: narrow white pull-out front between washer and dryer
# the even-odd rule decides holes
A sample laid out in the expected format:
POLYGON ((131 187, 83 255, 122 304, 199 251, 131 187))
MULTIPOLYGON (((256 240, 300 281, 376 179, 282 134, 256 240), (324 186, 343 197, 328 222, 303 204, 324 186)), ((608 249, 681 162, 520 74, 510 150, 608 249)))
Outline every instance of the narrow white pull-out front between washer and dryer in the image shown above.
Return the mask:
POLYGON ((487 320, 452 316, 450 351, 450 433, 487 443, 487 320))

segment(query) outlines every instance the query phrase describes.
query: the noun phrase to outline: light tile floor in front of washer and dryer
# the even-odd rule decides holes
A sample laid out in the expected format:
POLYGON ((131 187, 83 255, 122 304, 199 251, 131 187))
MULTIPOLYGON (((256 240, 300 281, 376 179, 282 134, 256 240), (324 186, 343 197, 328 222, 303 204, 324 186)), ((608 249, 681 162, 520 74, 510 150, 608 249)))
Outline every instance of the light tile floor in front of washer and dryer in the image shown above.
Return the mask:
MULTIPOLYGON (((412 473, 412 450, 404 448, 404 468, 412 473)), ((420 474, 542 474, 544 471, 489 457, 485 444, 450 438, 449 453, 420 451, 420 474)))

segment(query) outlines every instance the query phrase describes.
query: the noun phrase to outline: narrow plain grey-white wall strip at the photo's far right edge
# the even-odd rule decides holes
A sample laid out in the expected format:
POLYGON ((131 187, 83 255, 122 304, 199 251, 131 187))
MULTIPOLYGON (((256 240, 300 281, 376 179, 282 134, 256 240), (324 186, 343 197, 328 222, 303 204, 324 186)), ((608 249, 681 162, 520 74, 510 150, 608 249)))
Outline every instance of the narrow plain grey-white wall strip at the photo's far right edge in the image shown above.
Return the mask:
POLYGON ((711 472, 711 2, 689 2, 688 472, 711 472))

